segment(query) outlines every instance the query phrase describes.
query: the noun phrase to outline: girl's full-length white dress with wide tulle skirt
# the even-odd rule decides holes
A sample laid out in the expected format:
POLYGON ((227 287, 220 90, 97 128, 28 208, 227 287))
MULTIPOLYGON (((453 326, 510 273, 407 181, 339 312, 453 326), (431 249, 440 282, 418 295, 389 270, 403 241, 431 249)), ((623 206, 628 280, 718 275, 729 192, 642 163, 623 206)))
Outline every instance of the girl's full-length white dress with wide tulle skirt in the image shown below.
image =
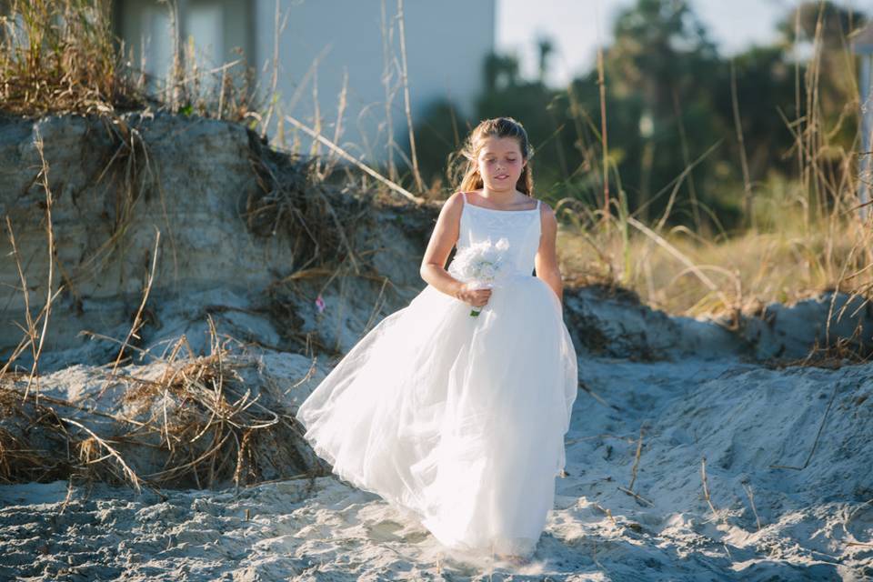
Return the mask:
POLYGON ((531 275, 539 201, 464 202, 457 252, 509 241, 508 274, 481 314, 426 286, 346 354, 296 418, 337 476, 411 510, 447 549, 529 557, 565 465, 576 350, 557 296, 531 275))

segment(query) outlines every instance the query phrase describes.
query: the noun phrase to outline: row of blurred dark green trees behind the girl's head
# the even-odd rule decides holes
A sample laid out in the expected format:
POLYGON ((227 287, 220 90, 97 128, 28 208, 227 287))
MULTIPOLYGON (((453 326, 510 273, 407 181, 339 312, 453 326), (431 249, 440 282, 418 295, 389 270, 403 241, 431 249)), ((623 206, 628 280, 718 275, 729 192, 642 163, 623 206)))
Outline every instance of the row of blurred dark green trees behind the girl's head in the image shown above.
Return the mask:
MULTIPOLYGON (((791 179, 802 171, 798 130, 789 125, 808 114, 808 86, 817 87, 817 115, 828 138, 838 151, 852 150, 858 102, 845 38, 862 23, 863 15, 808 2, 786 15, 778 43, 726 58, 687 3, 637 0, 617 15, 615 40, 603 50, 606 153, 597 70, 567 87, 544 85, 547 57, 556 47, 540 38, 536 80, 520 77, 514 55, 490 55, 473 120, 449 125, 453 107, 445 102, 427 112, 416 127, 419 160, 427 173, 437 175, 457 148, 457 131, 463 137, 480 119, 511 115, 524 123, 534 146, 537 196, 553 202, 569 196, 602 207, 606 155, 620 176, 622 204, 631 215, 646 222, 667 214, 668 224, 730 231, 744 222, 744 157, 753 196, 772 176, 791 179), (795 60, 796 17, 798 40, 813 39, 821 20, 818 85, 807 82, 813 65, 795 60), (688 166, 693 167, 683 176, 688 166)), ((835 164, 828 171, 846 168, 835 164)), ((611 190, 615 198, 615 181, 611 190)), ((619 213, 617 206, 612 212, 619 213)))

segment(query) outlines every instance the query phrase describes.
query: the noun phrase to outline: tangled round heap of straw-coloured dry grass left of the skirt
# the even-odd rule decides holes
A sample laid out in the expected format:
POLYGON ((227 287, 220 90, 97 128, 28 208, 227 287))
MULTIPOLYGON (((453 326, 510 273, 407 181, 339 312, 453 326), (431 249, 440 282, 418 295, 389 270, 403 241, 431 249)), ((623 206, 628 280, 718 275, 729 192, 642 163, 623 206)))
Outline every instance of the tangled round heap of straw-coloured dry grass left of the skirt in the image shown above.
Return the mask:
POLYGON ((163 486, 232 482, 239 487, 264 478, 260 466, 265 456, 270 464, 286 458, 295 474, 306 472, 308 463, 296 449, 300 439, 293 416, 275 397, 254 393, 255 386, 240 375, 253 363, 231 358, 232 340, 221 341, 211 329, 208 356, 179 358, 182 339, 158 380, 133 378, 125 388, 132 429, 124 440, 166 453, 165 468, 142 477, 163 486))

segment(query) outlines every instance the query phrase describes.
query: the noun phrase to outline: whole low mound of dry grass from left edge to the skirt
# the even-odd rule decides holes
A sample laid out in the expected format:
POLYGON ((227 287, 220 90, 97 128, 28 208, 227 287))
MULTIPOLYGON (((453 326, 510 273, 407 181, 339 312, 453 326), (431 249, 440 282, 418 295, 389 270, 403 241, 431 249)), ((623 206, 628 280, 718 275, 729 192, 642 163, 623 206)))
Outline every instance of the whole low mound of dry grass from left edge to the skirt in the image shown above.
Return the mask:
MULTIPOLYGON (((210 320, 211 323, 211 320, 210 320)), ((71 478, 140 487, 236 487, 267 477, 315 476, 301 427, 211 326, 206 356, 183 336, 156 379, 104 369, 113 406, 26 395, 27 375, 0 381, 0 480, 71 478), (109 409, 111 407, 111 410, 109 409), (154 470, 156 465, 161 468, 154 470), (145 470, 152 467, 152 470, 145 470)), ((105 400, 102 400, 105 402, 105 400)))

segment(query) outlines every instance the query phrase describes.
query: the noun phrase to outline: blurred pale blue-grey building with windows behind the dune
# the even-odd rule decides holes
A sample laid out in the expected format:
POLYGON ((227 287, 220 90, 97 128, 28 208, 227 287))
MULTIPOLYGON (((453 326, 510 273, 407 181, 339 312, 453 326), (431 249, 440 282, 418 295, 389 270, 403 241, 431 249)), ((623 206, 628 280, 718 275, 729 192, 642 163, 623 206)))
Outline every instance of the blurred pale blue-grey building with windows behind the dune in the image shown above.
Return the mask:
MULTIPOLYGON (((457 105, 459 115, 473 115, 484 86, 484 61, 495 45, 495 3, 402 3, 414 121, 440 99, 457 105)), ((291 146, 288 134, 293 126, 280 125, 285 115, 312 126, 318 112, 322 133, 332 138, 347 75, 340 146, 372 164, 383 162, 387 155, 389 91, 384 80, 393 93, 390 111, 396 142, 406 143, 408 133, 398 4, 398 0, 115 0, 113 18, 115 34, 125 40, 134 64, 144 63, 152 79, 166 78, 176 40, 193 42, 201 70, 216 69, 242 55, 256 69, 260 95, 269 99, 276 49, 276 108, 267 132, 276 146, 291 146), (277 23, 284 29, 276 45, 277 23), (386 75, 386 70, 391 74, 386 75)), ((216 81, 220 78, 218 73, 212 76, 216 81)), ((302 132, 297 136, 301 150, 308 151, 311 139, 302 132)))

